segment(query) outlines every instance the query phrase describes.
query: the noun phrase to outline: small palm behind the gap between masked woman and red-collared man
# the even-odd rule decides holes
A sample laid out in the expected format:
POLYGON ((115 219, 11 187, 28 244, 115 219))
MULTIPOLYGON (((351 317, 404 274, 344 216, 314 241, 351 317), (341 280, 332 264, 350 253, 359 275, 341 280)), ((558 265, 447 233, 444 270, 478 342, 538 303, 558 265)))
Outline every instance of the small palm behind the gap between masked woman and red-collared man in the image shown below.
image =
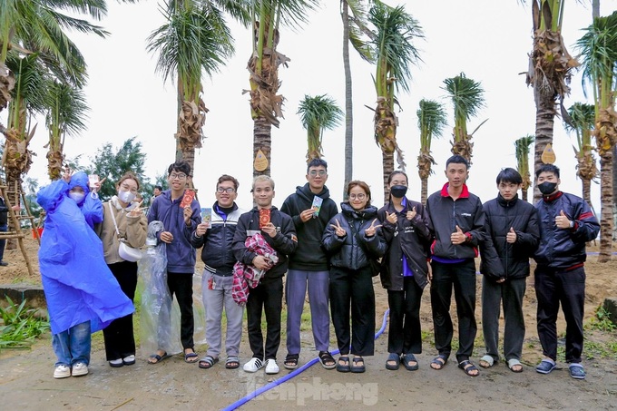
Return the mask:
POLYGON ((417 156, 417 173, 422 181, 421 201, 426 204, 428 196, 428 177, 433 173, 431 169, 436 164, 431 155, 433 137, 441 137, 446 127, 446 109, 443 104, 433 100, 420 100, 417 109, 417 127, 420 129, 420 154, 417 156))

